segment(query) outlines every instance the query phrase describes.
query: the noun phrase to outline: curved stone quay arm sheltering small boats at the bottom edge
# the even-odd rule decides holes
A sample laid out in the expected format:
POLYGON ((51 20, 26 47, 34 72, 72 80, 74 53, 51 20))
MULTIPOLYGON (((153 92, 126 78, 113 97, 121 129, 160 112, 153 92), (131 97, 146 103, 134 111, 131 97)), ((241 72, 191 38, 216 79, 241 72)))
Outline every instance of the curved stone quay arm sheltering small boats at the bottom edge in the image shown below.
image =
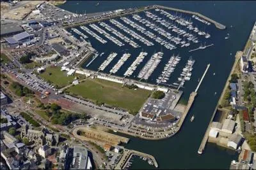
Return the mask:
POLYGON ((127 164, 129 162, 129 160, 131 159, 132 155, 138 155, 139 157, 145 157, 147 159, 150 159, 154 163, 154 166, 158 167, 156 159, 152 155, 149 155, 147 153, 138 152, 136 150, 124 149, 124 153, 122 155, 122 158, 120 159, 120 161, 116 165, 115 169, 124 169, 125 166, 127 166, 127 164))

